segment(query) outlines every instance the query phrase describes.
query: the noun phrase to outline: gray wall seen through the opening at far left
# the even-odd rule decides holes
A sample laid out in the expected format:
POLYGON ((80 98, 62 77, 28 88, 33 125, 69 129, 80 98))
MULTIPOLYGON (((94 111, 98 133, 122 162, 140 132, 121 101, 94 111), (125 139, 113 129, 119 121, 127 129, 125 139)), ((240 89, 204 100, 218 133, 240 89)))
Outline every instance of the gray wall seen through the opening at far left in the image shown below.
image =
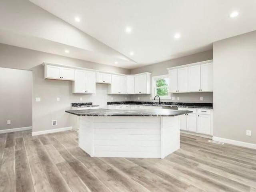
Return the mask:
POLYGON ((32 126, 31 71, 0 68, 0 106, 0 130, 32 126))

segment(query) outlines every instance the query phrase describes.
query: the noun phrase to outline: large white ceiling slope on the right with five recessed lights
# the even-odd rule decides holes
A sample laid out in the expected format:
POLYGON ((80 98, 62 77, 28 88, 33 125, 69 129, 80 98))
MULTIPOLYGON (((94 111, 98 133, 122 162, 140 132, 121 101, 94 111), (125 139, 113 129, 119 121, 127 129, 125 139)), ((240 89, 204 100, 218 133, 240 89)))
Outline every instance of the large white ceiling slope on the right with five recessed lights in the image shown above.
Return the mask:
POLYGON ((211 50, 212 42, 256 30, 256 0, 30 1, 138 62, 137 66, 211 50), (239 15, 230 18, 234 10, 239 15), (132 27, 130 34, 126 26, 132 27))

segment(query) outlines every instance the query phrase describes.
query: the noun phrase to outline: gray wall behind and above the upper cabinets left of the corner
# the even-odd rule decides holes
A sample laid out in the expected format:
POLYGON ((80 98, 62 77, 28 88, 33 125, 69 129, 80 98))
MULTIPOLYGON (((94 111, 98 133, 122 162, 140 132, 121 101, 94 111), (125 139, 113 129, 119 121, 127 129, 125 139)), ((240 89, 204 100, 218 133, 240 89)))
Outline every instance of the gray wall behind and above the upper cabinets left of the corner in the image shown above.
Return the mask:
MULTIPOLYGON (((128 69, 67 58, 5 44, 0 44, 0 61, 0 67, 32 70, 33 72, 33 132, 72 126, 70 115, 66 114, 64 111, 70 109, 70 104, 72 102, 80 102, 80 97, 82 97, 82 102, 93 102, 94 104, 100 105, 100 107, 106 107, 106 102, 112 101, 111 97, 113 97, 113 101, 122 101, 125 100, 126 97, 120 95, 108 95, 107 86, 104 84, 96 84, 96 94, 72 94, 72 82, 64 80, 45 80, 43 78, 44 70, 41 64, 42 62, 52 62, 122 74, 129 74, 130 70, 128 69), (41 102, 35 102, 36 97, 40 97, 41 102), (57 97, 60 97, 60 102, 57 102, 57 97), (52 120, 57 120, 56 126, 52 126, 52 120)), ((16 98, 20 99, 18 94, 16 94, 16 98)), ((15 107, 15 105, 10 105, 12 105, 12 103, 9 103, 10 108, 15 107)), ((9 115, 12 116, 12 113, 13 112, 10 112, 9 115)), ((28 113, 26 116, 31 117, 31 112, 22 110, 22 113, 28 113)), ((21 127, 23 125, 20 124, 17 126, 21 127)), ((29 126, 31 126, 31 123, 29 126)))

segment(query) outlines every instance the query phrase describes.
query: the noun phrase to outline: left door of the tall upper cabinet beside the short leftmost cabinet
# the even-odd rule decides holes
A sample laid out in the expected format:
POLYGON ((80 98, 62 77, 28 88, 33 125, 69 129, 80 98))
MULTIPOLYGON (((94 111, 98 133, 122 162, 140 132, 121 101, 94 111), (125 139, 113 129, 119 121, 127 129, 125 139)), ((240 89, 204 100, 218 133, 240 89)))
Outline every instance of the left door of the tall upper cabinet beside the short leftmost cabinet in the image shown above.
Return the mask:
POLYGON ((86 93, 86 71, 75 71, 74 93, 86 93))

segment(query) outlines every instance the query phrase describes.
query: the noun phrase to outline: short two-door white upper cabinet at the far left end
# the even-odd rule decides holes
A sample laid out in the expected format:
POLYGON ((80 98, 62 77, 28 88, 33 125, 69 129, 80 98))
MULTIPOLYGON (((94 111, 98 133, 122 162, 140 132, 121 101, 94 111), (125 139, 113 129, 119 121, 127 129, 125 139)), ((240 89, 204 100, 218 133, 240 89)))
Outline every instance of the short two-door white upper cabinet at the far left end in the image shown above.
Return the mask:
POLYGON ((45 65, 44 78, 74 81, 74 71, 72 68, 45 65))

